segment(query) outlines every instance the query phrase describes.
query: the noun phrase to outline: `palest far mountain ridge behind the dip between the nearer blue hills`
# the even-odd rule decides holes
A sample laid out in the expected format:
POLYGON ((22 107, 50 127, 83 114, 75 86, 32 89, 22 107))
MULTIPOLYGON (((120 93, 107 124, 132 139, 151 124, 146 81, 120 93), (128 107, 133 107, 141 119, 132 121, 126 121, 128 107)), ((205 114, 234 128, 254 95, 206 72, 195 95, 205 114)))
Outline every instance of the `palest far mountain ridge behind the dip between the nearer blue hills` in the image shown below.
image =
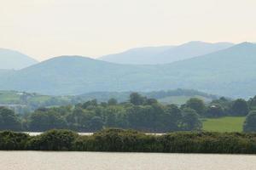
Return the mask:
POLYGON ((178 60, 210 54, 224 48, 230 48, 233 45, 234 44, 230 42, 187 42, 179 46, 132 48, 120 54, 102 56, 100 59, 118 64, 167 64, 178 60))

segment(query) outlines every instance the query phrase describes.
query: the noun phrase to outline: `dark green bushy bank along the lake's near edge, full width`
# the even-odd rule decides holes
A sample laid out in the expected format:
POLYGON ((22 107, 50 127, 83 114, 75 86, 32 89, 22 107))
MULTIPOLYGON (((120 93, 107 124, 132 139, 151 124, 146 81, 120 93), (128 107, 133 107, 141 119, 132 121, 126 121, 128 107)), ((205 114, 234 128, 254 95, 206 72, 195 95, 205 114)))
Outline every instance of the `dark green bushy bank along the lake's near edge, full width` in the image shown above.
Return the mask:
POLYGON ((79 136, 68 130, 29 136, 5 131, 0 133, 0 150, 256 154, 256 134, 180 132, 157 136, 107 129, 91 136, 79 136))

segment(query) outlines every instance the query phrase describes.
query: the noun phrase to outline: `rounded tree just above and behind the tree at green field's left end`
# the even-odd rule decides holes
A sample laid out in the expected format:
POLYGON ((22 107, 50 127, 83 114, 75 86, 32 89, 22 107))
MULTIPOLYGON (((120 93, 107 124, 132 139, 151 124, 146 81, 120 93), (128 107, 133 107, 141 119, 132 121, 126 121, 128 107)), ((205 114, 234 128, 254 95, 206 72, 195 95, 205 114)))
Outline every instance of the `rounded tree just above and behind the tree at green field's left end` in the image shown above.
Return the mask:
POLYGON ((203 100, 197 98, 191 98, 186 102, 186 106, 195 110, 200 116, 206 111, 206 106, 203 100))

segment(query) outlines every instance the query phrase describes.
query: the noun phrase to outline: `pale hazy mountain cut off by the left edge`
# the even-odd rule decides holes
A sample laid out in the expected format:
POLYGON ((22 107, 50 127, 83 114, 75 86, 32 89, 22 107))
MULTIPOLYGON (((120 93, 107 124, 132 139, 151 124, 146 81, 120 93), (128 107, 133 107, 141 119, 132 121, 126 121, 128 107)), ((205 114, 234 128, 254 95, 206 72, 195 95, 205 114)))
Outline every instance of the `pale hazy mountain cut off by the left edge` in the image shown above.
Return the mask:
POLYGON ((30 58, 26 54, 18 51, 0 48, 0 69, 19 70, 38 63, 37 60, 30 58))

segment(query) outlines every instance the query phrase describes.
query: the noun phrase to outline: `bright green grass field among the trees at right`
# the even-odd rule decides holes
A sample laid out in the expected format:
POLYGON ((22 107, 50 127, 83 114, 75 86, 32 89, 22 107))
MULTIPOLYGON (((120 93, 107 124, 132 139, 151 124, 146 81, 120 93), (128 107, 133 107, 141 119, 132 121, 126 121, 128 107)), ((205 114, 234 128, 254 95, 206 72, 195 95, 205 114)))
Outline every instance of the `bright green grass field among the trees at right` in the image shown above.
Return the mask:
POLYGON ((211 132, 242 132, 245 116, 225 116, 203 121, 203 130, 211 132))

